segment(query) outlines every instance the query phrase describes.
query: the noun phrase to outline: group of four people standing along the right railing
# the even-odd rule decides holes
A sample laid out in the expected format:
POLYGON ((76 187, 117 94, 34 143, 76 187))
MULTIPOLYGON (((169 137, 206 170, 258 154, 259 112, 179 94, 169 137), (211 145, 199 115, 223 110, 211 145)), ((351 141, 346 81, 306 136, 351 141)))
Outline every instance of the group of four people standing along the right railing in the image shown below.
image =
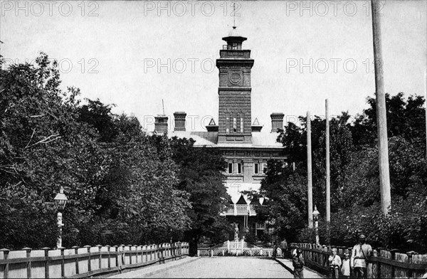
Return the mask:
MULTIPOLYGON (((339 278, 339 273, 344 278, 349 278, 354 272, 356 278, 367 278, 367 260, 371 256, 372 248, 367 244, 366 236, 359 235, 359 243, 352 249, 352 257, 349 253, 344 253, 344 259, 337 255, 337 248, 332 248, 332 255, 329 257, 330 278, 339 278)), ((295 248, 292 251, 292 265, 294 268, 294 278, 304 278, 302 270, 305 262, 302 256, 302 249, 295 248)))

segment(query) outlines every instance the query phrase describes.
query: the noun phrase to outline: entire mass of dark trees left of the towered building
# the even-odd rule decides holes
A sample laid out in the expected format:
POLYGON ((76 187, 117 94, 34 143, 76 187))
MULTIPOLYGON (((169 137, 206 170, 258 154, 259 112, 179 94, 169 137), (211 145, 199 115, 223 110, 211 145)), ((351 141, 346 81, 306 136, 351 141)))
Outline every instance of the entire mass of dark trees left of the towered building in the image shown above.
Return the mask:
POLYGON ((0 247, 56 246, 60 186, 65 247, 197 241, 227 228, 219 154, 147 135, 100 100, 80 102, 78 89, 59 89, 43 53, 0 79, 0 247))

